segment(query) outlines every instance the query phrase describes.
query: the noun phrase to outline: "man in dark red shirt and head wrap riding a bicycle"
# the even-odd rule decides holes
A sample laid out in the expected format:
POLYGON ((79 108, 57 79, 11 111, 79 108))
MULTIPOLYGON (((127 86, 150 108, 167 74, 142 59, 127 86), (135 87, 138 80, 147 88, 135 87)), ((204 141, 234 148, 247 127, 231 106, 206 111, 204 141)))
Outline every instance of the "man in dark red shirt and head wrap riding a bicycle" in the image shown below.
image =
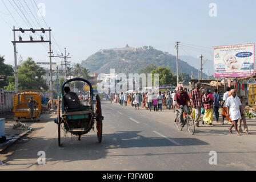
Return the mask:
POLYGON ((190 98, 189 98, 189 95, 187 94, 187 92, 183 92, 182 86, 179 86, 178 92, 175 93, 174 101, 176 104, 176 108, 179 111, 179 113, 175 113, 176 119, 178 119, 178 117, 179 117, 179 119, 181 121, 181 126, 183 127, 184 126, 184 118, 183 118, 183 113, 182 113, 181 108, 183 107, 183 110, 186 114, 190 114, 190 109, 187 104, 189 103, 191 105, 191 102, 190 102, 190 98))

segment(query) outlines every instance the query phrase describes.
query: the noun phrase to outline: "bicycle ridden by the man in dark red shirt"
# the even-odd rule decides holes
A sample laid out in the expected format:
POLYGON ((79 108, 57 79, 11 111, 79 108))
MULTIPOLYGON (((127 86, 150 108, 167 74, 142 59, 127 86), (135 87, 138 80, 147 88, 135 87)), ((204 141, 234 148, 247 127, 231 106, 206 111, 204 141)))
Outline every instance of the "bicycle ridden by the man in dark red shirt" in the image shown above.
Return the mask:
POLYGON ((185 127, 185 125, 187 125, 187 130, 189 131, 189 133, 191 135, 194 134, 195 132, 195 123, 193 121, 193 118, 190 114, 186 114, 184 112, 184 107, 183 106, 180 106, 181 108, 181 112, 179 110, 177 110, 179 112, 179 114, 183 114, 183 119, 184 119, 184 124, 181 125, 181 119, 179 119, 179 114, 177 114, 177 117, 175 118, 175 125, 177 126, 178 130, 179 131, 182 131, 183 127, 185 127))

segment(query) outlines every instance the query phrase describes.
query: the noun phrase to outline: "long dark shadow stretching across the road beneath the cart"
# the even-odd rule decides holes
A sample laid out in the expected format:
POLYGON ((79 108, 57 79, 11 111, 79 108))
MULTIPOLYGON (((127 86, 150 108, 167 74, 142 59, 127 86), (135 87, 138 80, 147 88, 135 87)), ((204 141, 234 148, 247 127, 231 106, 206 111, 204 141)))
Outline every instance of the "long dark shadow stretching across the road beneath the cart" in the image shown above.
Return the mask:
MULTIPOLYGON (((97 142, 95 134, 89 134, 78 141, 76 137, 62 137, 62 147, 58 147, 57 138, 36 137, 27 141, 19 141, 5 152, 8 161, 25 161, 26 165, 35 164, 38 151, 45 151, 47 161, 74 162, 75 160, 98 160, 106 158, 111 149, 134 147, 177 147, 176 144, 162 137, 143 137, 142 131, 119 131, 113 134, 103 134, 102 143, 97 142), (9 153, 10 152, 10 153, 9 153), (8 155, 10 154, 10 155, 8 155), (32 163, 31 163, 32 162, 32 163)), ((171 138, 181 146, 206 145, 197 138, 171 138)), ((147 154, 145 154, 147 155, 147 154)), ((22 165, 18 163, 16 165, 22 165)))

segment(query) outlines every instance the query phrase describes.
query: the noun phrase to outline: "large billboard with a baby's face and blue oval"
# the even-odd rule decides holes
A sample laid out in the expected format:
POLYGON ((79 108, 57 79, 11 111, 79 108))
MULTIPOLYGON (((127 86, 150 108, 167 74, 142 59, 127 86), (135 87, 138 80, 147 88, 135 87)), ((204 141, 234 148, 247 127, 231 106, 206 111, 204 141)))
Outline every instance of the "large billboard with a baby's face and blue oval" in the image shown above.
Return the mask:
POLYGON ((254 43, 213 47, 215 77, 254 75, 254 43))

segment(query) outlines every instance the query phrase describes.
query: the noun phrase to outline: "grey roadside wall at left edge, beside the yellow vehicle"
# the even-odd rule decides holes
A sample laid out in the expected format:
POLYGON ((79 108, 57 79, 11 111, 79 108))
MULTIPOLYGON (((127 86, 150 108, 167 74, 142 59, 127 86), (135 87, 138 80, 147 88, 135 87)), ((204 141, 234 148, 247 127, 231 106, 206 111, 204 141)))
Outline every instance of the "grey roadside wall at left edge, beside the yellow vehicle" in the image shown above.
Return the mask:
POLYGON ((0 103, 0 113, 13 112, 14 91, 3 91, 3 105, 0 103))

